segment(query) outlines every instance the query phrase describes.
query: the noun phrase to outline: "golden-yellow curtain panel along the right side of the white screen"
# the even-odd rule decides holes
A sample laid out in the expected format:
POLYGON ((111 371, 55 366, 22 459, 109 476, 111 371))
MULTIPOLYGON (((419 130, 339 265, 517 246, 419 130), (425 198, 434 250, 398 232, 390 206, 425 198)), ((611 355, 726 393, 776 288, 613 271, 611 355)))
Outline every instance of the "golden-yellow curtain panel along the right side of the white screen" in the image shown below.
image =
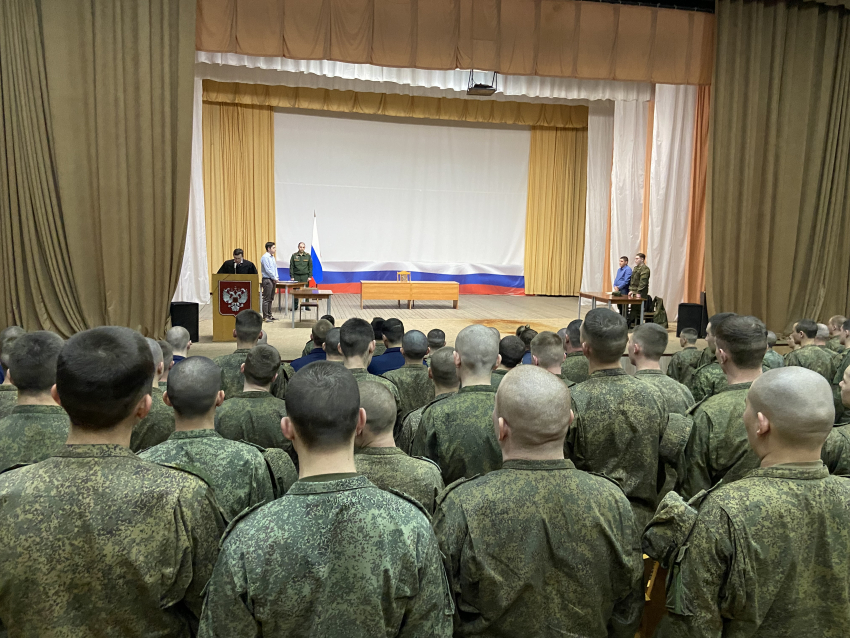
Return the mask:
POLYGON ((584 254, 587 129, 531 129, 525 292, 577 295, 584 254))

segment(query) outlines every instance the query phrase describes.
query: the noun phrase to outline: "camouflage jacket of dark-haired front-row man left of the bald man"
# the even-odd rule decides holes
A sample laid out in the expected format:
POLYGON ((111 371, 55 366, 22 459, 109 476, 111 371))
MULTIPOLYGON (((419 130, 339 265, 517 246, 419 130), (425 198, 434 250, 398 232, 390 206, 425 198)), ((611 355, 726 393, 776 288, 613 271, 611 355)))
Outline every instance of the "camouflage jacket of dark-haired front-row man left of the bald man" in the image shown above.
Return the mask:
POLYGON ((452 635, 437 539, 420 506, 332 474, 231 525, 202 638, 452 635))

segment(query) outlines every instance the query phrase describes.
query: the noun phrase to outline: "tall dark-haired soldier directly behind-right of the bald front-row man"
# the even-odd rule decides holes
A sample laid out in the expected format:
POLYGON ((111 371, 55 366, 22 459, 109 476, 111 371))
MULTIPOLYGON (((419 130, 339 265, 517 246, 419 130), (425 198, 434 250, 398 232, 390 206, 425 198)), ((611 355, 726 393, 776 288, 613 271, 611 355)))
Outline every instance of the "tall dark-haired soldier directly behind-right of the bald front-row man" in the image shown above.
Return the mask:
POLYGON ((575 422, 565 452, 579 469, 618 481, 643 529, 655 513, 667 410, 658 390, 620 366, 628 340, 619 313, 596 308, 585 316, 581 343, 590 378, 572 388, 575 422))

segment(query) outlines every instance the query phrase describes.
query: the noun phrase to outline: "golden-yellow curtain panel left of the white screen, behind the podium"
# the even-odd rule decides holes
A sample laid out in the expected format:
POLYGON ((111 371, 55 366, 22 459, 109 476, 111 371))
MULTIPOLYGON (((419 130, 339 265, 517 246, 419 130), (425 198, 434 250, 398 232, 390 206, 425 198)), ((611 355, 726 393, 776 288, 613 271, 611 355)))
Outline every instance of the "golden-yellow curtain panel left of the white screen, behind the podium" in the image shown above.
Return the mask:
POLYGON ((260 270, 267 241, 276 241, 274 109, 204 102, 204 207, 209 270, 233 249, 260 270))

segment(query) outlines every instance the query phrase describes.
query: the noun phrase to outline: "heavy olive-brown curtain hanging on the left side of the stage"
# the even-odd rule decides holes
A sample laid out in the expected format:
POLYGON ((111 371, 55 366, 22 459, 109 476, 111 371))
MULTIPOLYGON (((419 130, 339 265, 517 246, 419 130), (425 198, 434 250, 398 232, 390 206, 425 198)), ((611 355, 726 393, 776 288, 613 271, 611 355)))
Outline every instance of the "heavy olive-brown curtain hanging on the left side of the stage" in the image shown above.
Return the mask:
POLYGON ((160 336, 188 219, 195 2, 0 5, 5 319, 160 336))

